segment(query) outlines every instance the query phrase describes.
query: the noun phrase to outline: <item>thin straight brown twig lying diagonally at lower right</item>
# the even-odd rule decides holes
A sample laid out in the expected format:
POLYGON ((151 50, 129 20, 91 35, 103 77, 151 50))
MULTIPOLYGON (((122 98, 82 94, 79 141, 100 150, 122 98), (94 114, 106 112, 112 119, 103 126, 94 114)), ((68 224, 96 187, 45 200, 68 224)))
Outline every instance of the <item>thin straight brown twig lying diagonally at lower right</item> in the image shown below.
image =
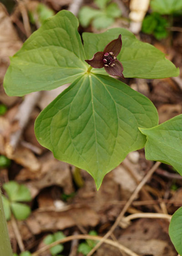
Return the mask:
POLYGON ((160 164, 161 164, 160 162, 156 162, 155 165, 153 165, 152 168, 147 172, 146 176, 144 176, 142 181, 138 184, 135 191, 132 193, 131 197, 125 204, 124 208, 122 209, 121 213, 117 217, 115 223, 112 225, 111 229, 106 233, 106 235, 103 236, 102 240, 87 254, 87 256, 91 256, 101 246, 101 244, 105 241, 105 239, 107 239, 112 234, 112 232, 116 229, 121 219, 123 218, 124 214, 126 213, 127 209, 130 207, 133 200, 135 200, 138 192, 140 192, 142 187, 145 185, 148 179, 152 176, 154 171, 156 171, 156 169, 159 167, 160 164))

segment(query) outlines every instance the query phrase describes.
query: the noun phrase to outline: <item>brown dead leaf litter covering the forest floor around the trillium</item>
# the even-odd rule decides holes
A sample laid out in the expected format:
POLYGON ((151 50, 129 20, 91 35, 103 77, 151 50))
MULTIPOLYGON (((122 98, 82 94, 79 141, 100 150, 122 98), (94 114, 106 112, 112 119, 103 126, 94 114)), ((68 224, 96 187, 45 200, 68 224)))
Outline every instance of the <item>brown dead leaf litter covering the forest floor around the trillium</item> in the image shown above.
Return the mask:
MULTIPOLYGON (((67 10, 71 2, 71 0, 41 1, 55 13, 63 9, 67 10)), ((129 12, 129 0, 120 2, 129 12)), ((94 230, 98 236, 103 237, 120 216, 116 228, 109 237, 110 240, 115 241, 115 246, 109 245, 106 241, 94 255, 177 256, 168 235, 168 226, 170 215, 182 205, 182 176, 178 175, 172 166, 157 165, 146 160, 145 151, 141 149, 130 153, 121 165, 108 173, 101 188, 96 191, 94 180, 86 171, 81 170, 82 180, 77 182, 73 175, 75 167, 56 160, 48 149, 37 142, 34 133, 35 118, 68 85, 49 92, 43 91, 38 97, 34 97, 33 102, 31 96, 30 98, 9 97, 5 94, 3 78, 9 65, 9 56, 15 54, 26 38, 39 27, 38 22, 32 24, 28 16, 29 12, 35 12, 39 2, 2 0, 2 3, 0 4, 0 104, 5 105, 7 111, 0 115, 0 155, 10 158, 11 163, 8 167, 0 169, 0 186, 8 181, 17 181, 27 186, 32 196, 29 203, 30 216, 23 221, 16 221, 14 218, 8 221, 13 251, 19 254, 20 251, 26 250, 34 253, 35 256, 50 256, 49 250, 38 252, 45 246, 43 240, 46 235, 61 230, 67 237, 86 235, 94 230), (152 166, 154 166, 153 173, 144 182, 140 192, 135 193, 135 197, 132 198, 136 187, 151 171, 152 166), (126 203, 128 203, 127 207, 125 207, 126 203), (136 213, 137 215, 133 215, 136 213), (151 214, 146 218, 145 213, 151 214), (130 219, 126 218, 127 216, 130 216, 130 219), (136 254, 127 254, 119 249, 118 244, 126 246, 131 253, 136 254)), ((93 3, 85 0, 82 5, 92 6, 93 3)), ((129 28, 127 15, 125 19, 116 19, 111 27, 129 28)), ((180 20, 182 20, 181 16, 174 18, 173 21, 173 26, 179 31, 170 32, 168 37, 161 41, 142 32, 138 32, 136 36, 166 53, 167 59, 182 70, 182 32, 180 32, 182 21, 180 20)), ((80 26, 79 32, 98 31, 90 25, 86 28, 80 26)), ((180 77, 157 80, 132 78, 126 79, 125 83, 154 103, 160 123, 182 114, 180 77)), ((5 193, 4 190, 3 192, 5 193)), ((64 243, 61 255, 84 255, 77 251, 81 242, 85 240, 74 239, 64 243)), ((95 244, 88 242, 87 245, 92 248, 95 244)))

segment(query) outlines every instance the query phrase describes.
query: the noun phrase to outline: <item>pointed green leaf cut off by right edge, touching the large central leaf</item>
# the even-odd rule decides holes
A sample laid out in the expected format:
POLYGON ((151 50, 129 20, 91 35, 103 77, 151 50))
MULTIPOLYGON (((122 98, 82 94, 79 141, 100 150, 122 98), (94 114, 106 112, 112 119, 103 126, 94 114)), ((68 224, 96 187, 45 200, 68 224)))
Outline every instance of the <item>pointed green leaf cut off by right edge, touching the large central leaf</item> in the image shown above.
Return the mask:
POLYGON ((147 136, 146 158, 172 165, 182 175, 182 115, 140 131, 147 136))

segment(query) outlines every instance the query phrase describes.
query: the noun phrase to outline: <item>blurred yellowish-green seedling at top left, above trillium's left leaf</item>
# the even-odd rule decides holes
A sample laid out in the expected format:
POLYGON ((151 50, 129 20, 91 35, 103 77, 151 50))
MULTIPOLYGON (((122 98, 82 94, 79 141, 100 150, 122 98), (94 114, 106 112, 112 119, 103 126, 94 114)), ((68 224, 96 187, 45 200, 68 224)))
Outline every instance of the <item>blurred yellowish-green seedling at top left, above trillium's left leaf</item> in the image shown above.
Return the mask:
POLYGON ((34 11, 29 11, 30 22, 32 24, 38 24, 39 27, 46 19, 53 15, 55 15, 55 12, 42 3, 39 3, 34 11))

